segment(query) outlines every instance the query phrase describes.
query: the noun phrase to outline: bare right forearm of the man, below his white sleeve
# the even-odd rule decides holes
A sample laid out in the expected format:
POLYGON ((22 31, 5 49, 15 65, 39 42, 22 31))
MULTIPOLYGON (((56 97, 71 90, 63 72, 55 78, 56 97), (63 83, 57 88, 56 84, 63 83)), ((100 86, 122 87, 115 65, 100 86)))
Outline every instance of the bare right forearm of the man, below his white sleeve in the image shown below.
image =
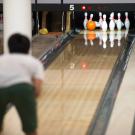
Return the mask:
POLYGON ((42 89, 43 81, 40 79, 33 79, 33 86, 35 88, 35 96, 39 97, 42 89))

